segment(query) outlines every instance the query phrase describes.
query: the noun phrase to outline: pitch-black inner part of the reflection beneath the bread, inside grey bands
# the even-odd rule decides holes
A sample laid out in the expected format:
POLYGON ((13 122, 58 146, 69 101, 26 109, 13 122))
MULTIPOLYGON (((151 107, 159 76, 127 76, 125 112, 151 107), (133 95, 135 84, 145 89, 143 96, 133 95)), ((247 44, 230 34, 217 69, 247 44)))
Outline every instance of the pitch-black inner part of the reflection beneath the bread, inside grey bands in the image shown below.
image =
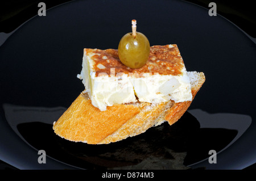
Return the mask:
MULTIPOLYGON (((56 136, 52 125, 46 123, 22 123, 17 127, 35 149, 44 148, 49 157, 82 169, 136 166, 147 158, 154 158, 155 165, 174 161, 174 166, 163 165, 162 169, 190 169, 189 165, 207 159, 209 150, 221 151, 237 135, 237 131, 232 129, 200 128, 200 123, 188 112, 171 127, 164 123, 139 136, 108 145, 65 140, 56 136), (184 158, 179 161, 183 154, 184 158)), ((154 165, 147 167, 155 168, 154 165)))

